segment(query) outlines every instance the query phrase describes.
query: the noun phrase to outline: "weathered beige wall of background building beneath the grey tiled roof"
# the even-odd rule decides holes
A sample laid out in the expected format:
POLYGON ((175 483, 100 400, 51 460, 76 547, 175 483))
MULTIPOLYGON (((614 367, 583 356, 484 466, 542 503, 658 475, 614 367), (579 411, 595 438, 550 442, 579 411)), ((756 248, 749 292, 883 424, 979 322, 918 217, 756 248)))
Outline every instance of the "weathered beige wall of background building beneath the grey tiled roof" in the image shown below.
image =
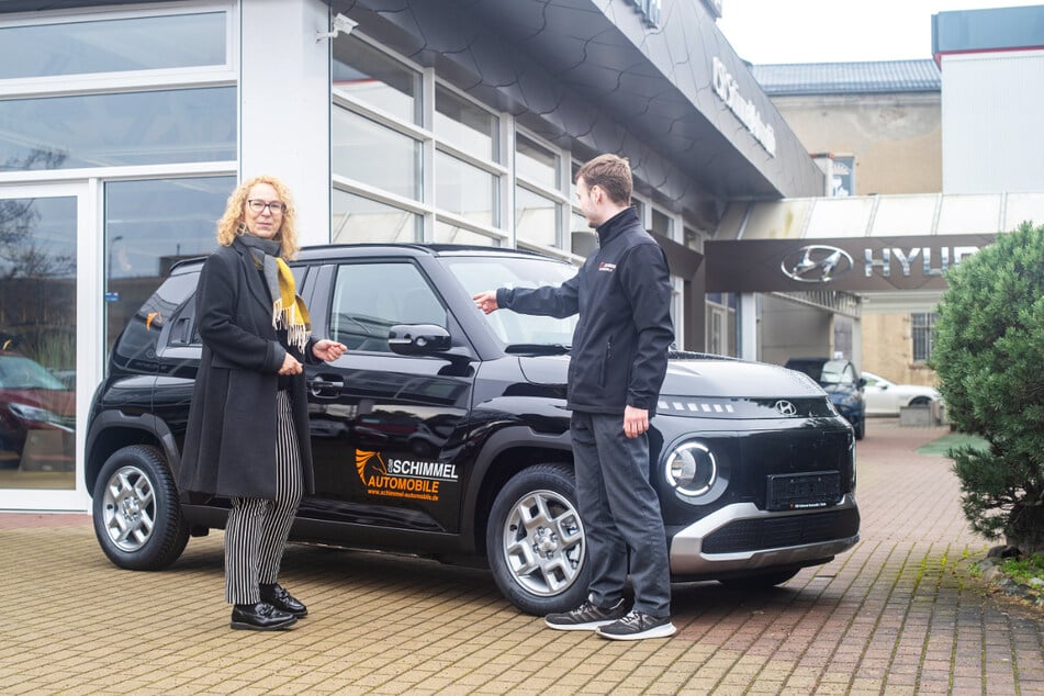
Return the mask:
POLYGON ((854 194, 942 190, 938 93, 775 97, 809 153, 855 157, 854 194))

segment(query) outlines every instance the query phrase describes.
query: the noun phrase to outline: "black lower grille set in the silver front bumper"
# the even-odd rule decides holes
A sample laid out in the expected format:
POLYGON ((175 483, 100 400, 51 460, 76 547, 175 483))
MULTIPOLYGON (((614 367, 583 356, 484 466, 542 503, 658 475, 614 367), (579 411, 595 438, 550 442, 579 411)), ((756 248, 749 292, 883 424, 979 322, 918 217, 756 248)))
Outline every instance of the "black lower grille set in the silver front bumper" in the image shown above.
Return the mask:
POLYGON ((704 539, 704 553, 762 551, 854 537, 860 513, 854 508, 765 519, 740 519, 704 539))

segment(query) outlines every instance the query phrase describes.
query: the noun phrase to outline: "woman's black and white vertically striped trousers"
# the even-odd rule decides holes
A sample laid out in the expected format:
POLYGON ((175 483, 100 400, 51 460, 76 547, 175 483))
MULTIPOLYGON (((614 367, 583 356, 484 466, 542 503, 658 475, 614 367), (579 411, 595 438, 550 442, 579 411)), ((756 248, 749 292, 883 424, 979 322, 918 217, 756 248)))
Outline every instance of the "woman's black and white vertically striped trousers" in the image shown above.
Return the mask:
POLYGON ((225 527, 225 600, 257 604, 258 585, 279 576, 287 537, 304 495, 290 392, 276 396, 276 499, 232 498, 225 527))

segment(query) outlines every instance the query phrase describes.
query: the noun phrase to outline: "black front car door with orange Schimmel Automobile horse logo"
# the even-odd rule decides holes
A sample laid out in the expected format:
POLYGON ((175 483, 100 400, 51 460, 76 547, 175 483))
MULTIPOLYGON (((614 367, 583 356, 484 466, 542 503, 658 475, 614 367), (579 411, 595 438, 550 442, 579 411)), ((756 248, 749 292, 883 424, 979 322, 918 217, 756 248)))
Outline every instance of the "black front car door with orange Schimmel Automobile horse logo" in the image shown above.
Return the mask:
POLYGON ((461 329, 412 259, 344 262, 330 284, 327 328, 348 352, 307 371, 316 491, 300 515, 457 531, 474 369, 460 355, 396 355, 388 338, 436 324, 462 346, 461 329))

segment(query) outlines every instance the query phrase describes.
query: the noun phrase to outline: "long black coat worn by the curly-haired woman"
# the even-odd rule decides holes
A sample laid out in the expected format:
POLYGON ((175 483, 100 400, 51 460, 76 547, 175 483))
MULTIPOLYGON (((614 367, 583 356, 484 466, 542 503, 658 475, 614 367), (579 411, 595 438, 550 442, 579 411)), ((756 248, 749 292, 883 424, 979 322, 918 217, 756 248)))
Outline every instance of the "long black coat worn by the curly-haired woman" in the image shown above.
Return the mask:
MULTIPOLYGON (((238 240, 206 259, 195 307, 203 358, 189 409, 179 487, 184 493, 272 499, 278 372, 288 350, 302 362, 319 362, 312 353, 314 338, 302 356, 287 345, 285 332, 272 327, 268 288, 249 249, 238 240)), ((312 493, 304 374, 290 381, 304 490, 312 493)))

